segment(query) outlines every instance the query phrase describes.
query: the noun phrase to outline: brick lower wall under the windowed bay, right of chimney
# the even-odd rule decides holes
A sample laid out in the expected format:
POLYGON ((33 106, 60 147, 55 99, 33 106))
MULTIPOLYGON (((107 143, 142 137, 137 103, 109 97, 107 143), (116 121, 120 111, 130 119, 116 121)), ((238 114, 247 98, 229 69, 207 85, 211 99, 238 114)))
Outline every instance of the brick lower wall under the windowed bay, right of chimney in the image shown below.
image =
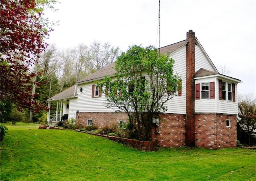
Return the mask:
POLYGON ((210 149, 236 147, 236 115, 195 114, 195 145, 210 149), (227 119, 230 127, 226 126, 227 119))

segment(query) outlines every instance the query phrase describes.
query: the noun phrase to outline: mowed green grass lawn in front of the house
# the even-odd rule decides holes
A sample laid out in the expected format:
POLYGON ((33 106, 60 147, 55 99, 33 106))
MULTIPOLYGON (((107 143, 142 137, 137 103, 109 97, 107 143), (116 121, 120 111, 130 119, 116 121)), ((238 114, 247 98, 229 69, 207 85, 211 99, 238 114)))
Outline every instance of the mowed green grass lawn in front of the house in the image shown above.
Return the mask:
POLYGON ((1 142, 4 180, 256 180, 256 151, 161 148, 143 152, 70 130, 10 125, 1 142))

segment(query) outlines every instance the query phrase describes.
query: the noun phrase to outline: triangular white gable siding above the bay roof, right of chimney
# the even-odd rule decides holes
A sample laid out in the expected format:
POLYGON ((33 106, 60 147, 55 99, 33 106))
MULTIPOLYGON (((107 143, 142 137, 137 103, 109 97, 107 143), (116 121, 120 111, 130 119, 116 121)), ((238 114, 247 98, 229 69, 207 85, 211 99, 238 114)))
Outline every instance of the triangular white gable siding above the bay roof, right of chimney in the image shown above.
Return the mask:
POLYGON ((198 71, 200 68, 214 71, 214 68, 212 67, 206 55, 203 53, 198 45, 195 45, 195 72, 198 71))

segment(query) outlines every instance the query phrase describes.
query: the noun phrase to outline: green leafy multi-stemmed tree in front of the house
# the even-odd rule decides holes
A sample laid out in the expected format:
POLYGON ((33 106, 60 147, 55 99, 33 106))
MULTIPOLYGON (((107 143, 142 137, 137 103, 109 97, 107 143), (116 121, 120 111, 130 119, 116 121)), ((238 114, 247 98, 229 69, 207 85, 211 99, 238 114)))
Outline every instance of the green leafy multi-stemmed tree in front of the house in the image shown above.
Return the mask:
POLYGON ((150 140, 152 118, 164 112, 164 103, 181 89, 173 63, 153 46, 134 45, 118 57, 116 80, 106 77, 99 83, 105 88, 106 106, 127 113, 132 138, 150 140))

